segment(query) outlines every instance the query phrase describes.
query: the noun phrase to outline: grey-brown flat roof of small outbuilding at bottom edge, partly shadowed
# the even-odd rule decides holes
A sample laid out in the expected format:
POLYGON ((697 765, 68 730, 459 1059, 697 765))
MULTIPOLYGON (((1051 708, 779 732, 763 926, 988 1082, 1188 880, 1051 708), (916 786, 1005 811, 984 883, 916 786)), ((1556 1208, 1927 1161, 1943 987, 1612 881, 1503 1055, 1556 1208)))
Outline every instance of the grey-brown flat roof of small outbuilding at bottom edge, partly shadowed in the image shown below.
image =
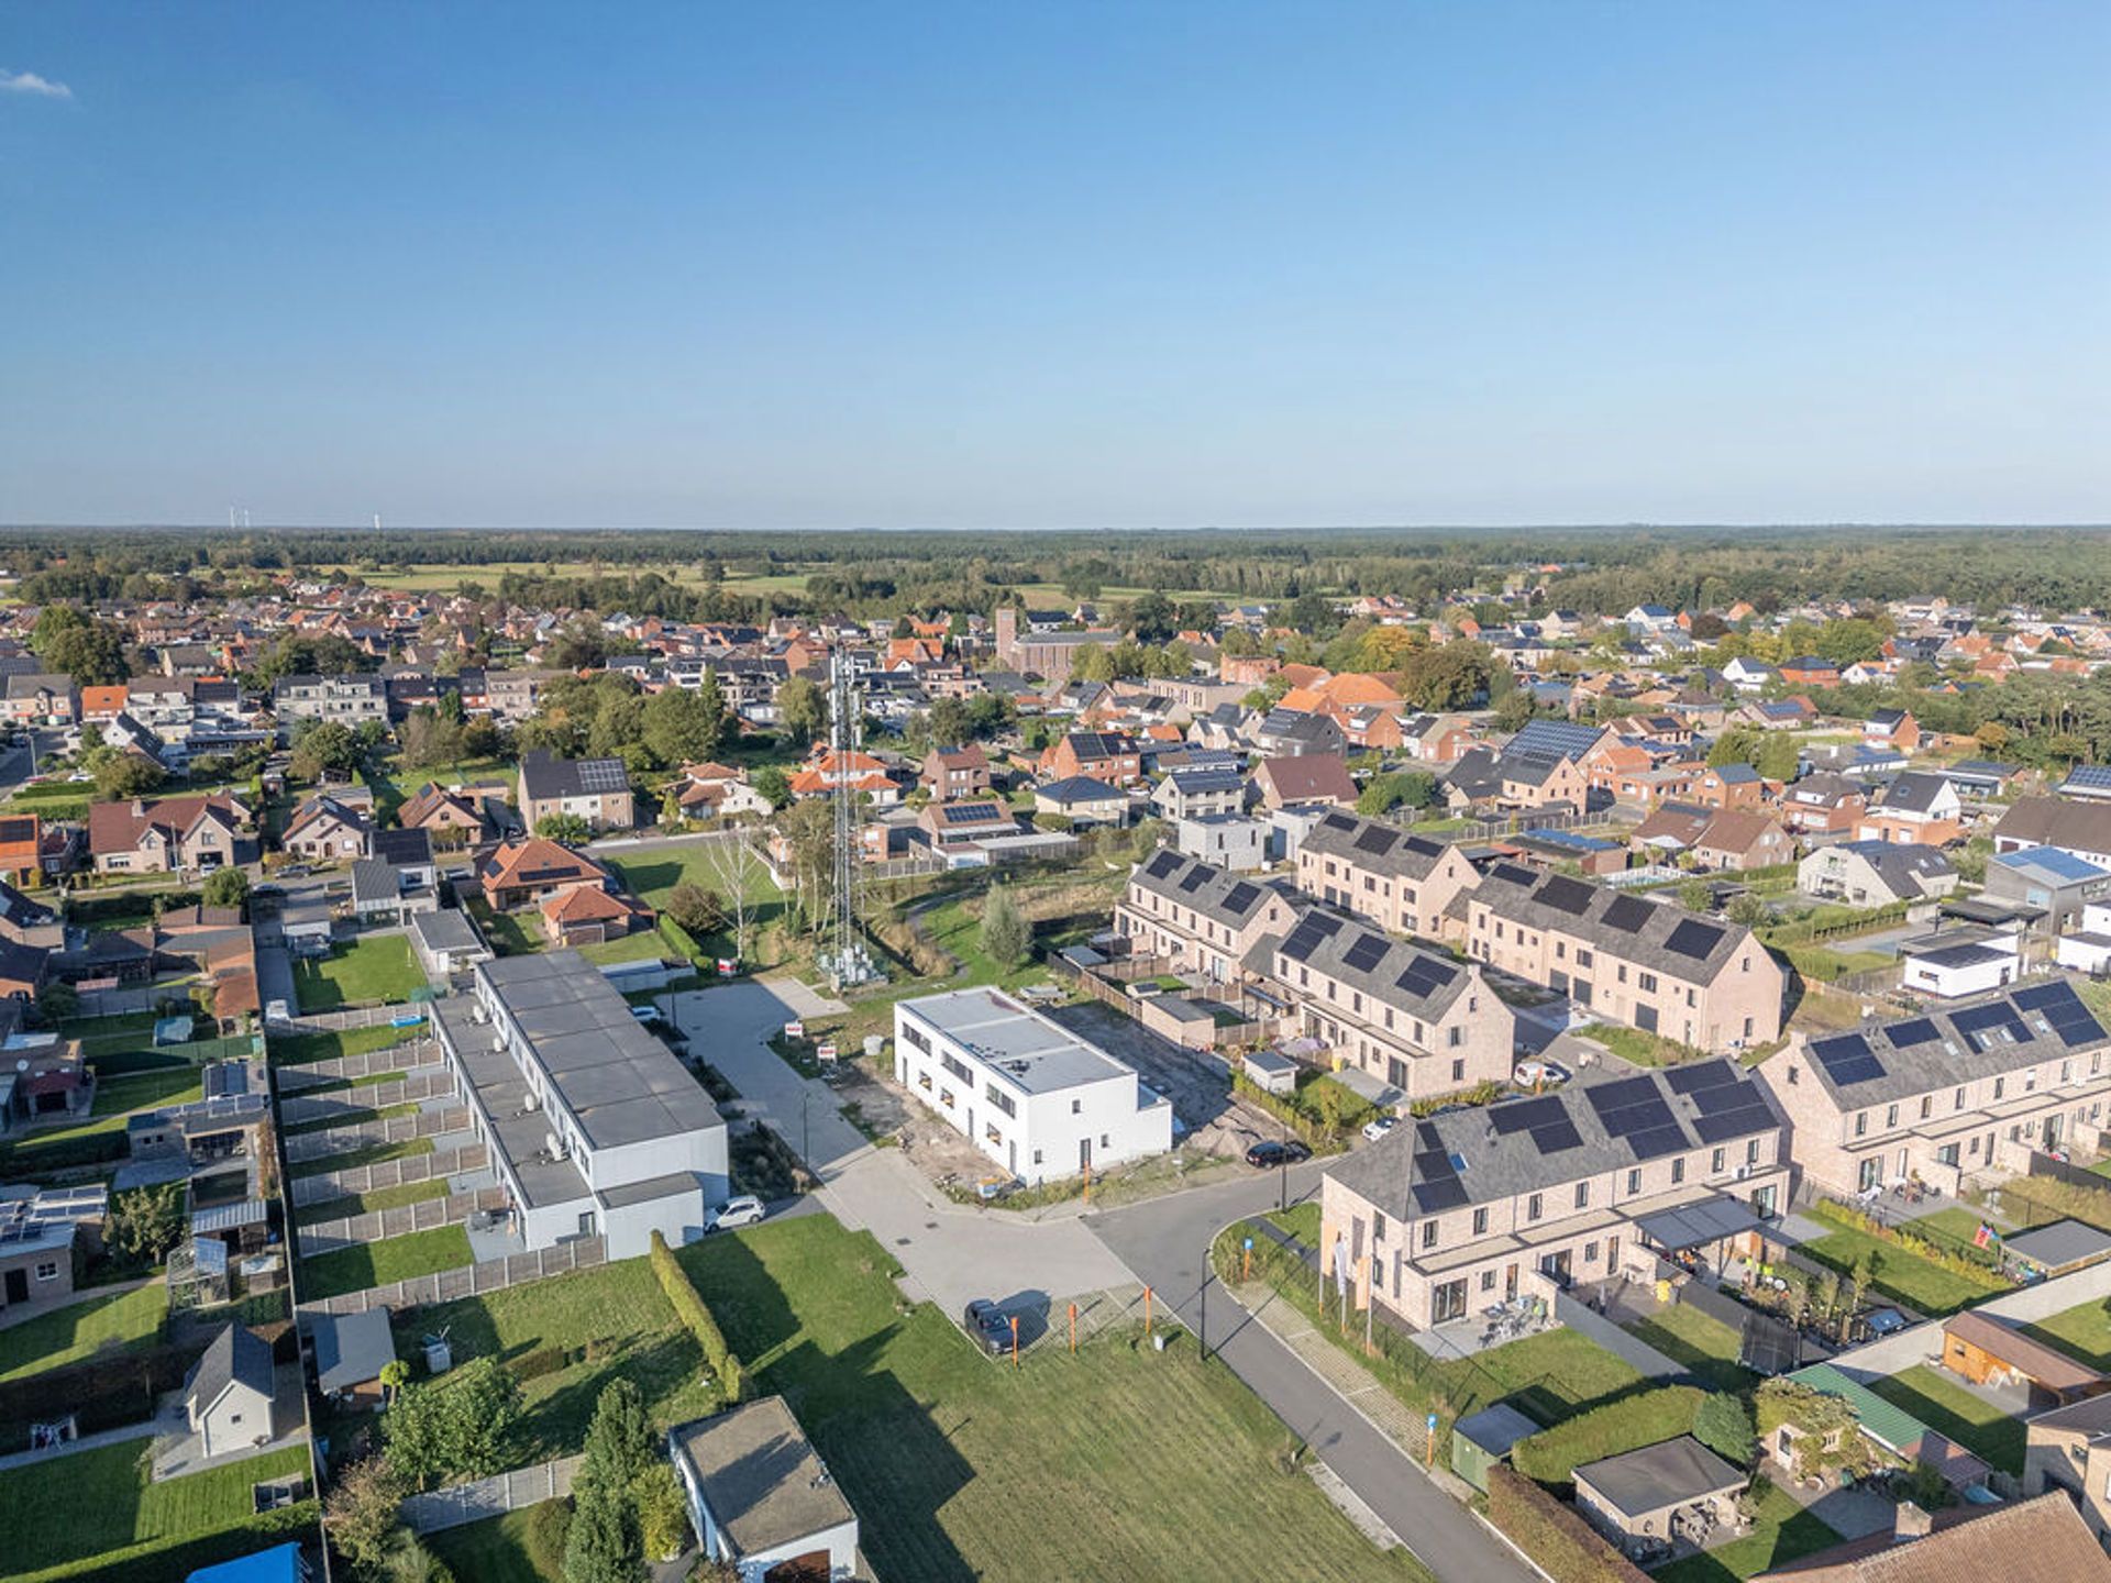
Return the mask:
POLYGON ((669 1442, 720 1532, 743 1556, 857 1522, 781 1395, 680 1425, 669 1442))

